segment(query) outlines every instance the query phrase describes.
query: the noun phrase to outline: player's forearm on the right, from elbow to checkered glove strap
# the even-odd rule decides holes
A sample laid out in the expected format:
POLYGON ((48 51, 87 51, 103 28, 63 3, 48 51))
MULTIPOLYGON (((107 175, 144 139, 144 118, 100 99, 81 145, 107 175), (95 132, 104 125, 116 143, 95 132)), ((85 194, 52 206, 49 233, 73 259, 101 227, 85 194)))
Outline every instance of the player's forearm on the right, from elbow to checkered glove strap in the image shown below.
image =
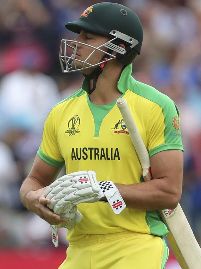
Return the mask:
POLYGON ((181 192, 169 186, 165 179, 154 179, 132 185, 115 184, 126 207, 141 210, 173 209, 181 198, 181 192))

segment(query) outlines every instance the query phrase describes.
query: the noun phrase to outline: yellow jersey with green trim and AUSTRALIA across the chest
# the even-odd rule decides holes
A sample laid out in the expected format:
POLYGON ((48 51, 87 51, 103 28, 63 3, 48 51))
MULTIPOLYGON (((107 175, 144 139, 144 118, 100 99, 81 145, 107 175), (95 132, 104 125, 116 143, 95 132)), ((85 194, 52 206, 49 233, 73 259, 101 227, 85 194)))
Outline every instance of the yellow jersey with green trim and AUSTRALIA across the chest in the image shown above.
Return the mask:
MULTIPOLYGON (((179 111, 175 103, 153 87, 136 81, 132 64, 126 66, 118 89, 126 98, 150 157, 168 149, 183 150, 179 111)), ((66 166, 66 173, 94 170, 97 180, 135 184, 143 181, 142 168, 118 107, 90 102, 82 88, 53 107, 44 126, 38 155, 53 166, 66 166)), ((108 85, 109 88, 109 85, 108 85)), ((168 233, 156 211, 125 208, 119 215, 108 203, 81 203, 83 219, 68 231, 67 240, 86 234, 109 234, 126 230, 164 236, 168 233)))

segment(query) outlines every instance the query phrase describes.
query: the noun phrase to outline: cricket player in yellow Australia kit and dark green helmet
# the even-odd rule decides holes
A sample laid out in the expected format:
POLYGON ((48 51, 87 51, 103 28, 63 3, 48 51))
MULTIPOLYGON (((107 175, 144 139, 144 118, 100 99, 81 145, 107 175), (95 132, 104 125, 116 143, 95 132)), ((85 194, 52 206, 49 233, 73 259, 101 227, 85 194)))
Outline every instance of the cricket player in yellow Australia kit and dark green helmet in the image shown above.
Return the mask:
POLYGON ((131 76, 143 29, 129 8, 97 3, 65 27, 78 36, 61 42, 62 71, 82 72, 83 84, 47 116, 21 201, 49 224, 68 229, 59 269, 164 269, 168 230, 157 210, 175 208, 182 193, 177 106, 131 76), (153 180, 143 180, 119 97, 127 100, 148 149, 153 180), (67 175, 55 180, 64 165, 67 175))

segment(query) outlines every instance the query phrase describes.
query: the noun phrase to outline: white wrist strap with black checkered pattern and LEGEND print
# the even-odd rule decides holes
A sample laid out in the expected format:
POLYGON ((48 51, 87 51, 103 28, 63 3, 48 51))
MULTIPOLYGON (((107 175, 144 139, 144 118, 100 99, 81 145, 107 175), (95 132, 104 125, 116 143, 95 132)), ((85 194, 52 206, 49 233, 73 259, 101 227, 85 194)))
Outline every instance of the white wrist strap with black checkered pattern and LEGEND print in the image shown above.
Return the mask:
POLYGON ((98 181, 101 191, 108 200, 115 214, 120 214, 122 210, 126 207, 126 204, 119 193, 118 188, 114 185, 112 181, 98 181))

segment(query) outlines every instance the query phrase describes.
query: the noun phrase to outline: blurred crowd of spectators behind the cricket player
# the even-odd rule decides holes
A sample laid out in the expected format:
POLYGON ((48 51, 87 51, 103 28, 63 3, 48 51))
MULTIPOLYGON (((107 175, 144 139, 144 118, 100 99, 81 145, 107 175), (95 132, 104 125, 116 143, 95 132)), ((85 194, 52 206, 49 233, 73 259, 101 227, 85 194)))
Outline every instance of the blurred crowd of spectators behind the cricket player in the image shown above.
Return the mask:
MULTIPOLYGON (((0 0, 0 247, 51 244, 49 225, 23 207, 19 188, 49 111, 83 80, 80 73, 62 74, 60 41, 75 38, 64 24, 97 2, 102 1, 0 0)), ((201 244, 201 1, 105 2, 137 13, 144 40, 133 76, 167 94, 181 112, 181 205, 201 244)), ((67 244, 65 234, 59 230, 60 244, 67 244)))

